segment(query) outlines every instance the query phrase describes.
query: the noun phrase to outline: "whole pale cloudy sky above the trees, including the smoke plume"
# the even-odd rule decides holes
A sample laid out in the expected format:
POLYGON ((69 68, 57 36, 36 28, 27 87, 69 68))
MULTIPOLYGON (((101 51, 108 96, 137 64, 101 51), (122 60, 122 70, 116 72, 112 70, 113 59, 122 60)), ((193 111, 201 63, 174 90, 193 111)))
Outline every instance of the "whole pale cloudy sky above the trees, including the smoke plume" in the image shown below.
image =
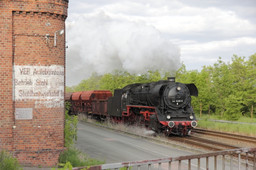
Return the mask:
POLYGON ((66 85, 124 69, 187 70, 256 53, 255 0, 70 0, 66 85))

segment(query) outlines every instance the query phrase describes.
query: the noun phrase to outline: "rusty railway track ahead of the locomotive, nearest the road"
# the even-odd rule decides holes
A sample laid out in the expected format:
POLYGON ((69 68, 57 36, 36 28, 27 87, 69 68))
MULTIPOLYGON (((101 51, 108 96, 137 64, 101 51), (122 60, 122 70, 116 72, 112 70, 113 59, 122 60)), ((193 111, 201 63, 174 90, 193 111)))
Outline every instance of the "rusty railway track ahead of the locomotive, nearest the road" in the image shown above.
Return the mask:
MULTIPOLYGON (((192 136, 174 137, 174 136, 172 136, 172 137, 169 137, 169 139, 170 140, 175 140, 175 141, 178 141, 178 142, 182 142, 182 143, 185 143, 185 144, 196 145, 196 146, 199 146, 201 148, 208 149, 208 150, 211 150, 211 151, 224 151, 224 150, 228 150, 228 149, 241 148, 241 147, 238 147, 238 146, 224 144, 224 143, 220 143, 220 142, 215 142, 215 141, 203 139, 203 138, 200 138, 200 137, 192 137, 192 136)), ((235 156, 238 157, 238 154, 236 154, 235 156)), ((246 159, 246 154, 241 153, 241 158, 246 159)), ((249 153, 248 159, 253 161, 253 155, 249 153)))

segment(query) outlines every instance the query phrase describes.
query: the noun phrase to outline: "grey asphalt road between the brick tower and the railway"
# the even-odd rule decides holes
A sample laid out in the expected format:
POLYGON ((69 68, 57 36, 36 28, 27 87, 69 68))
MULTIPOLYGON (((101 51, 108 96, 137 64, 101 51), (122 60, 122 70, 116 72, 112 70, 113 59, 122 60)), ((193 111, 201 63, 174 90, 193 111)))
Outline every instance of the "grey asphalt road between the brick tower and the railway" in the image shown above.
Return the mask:
MULTIPOLYGON (((85 123, 78 123, 78 141, 76 146, 91 158, 105 159, 106 163, 129 162, 138 160, 158 159, 175 156, 192 155, 194 153, 179 150, 162 144, 156 144, 144 139, 130 137, 124 134, 101 129, 85 123)), ((182 169, 188 169, 188 161, 182 161, 182 169)), ((192 169, 197 169, 197 159, 191 160, 192 169)), ((147 166, 141 169, 147 169, 147 166)), ((168 163, 162 163, 161 168, 168 170, 168 163)), ((137 167, 133 167, 136 170, 137 167)), ((153 165, 151 169, 158 169, 153 165)), ((178 162, 172 163, 172 169, 178 169, 178 162)), ((206 169, 206 159, 201 159, 201 170, 206 169)), ((209 158, 209 169, 214 169, 214 159, 209 158)), ((222 169, 222 161, 217 161, 217 169, 222 169)), ((225 169, 230 169, 230 163, 225 163, 225 169)), ((233 165, 233 169, 238 166, 233 165)), ((245 169, 241 167, 241 169, 245 169)))

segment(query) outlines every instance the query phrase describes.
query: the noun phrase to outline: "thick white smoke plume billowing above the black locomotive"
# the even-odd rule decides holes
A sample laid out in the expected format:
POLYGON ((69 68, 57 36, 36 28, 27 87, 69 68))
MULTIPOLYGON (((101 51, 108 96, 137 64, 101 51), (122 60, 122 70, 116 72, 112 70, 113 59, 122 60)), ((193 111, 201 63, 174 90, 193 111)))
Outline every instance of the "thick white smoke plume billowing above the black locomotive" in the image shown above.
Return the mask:
POLYGON ((124 69, 142 74, 147 70, 178 70, 180 48, 144 21, 118 21, 103 11, 81 15, 66 23, 66 85, 77 85, 91 72, 124 69))

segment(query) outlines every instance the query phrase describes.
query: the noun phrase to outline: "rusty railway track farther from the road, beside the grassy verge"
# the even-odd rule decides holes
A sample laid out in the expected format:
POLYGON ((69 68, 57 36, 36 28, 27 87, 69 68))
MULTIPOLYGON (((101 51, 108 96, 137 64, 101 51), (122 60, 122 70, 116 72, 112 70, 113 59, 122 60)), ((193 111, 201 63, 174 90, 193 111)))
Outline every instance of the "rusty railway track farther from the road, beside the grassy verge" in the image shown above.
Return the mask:
POLYGON ((195 128, 193 129, 193 132, 204 134, 204 135, 223 137, 223 138, 227 138, 227 139, 239 140, 239 141, 256 144, 256 137, 248 137, 248 136, 243 136, 243 135, 235 135, 235 134, 230 134, 230 133, 216 132, 216 131, 211 131, 211 130, 195 129, 195 128))

